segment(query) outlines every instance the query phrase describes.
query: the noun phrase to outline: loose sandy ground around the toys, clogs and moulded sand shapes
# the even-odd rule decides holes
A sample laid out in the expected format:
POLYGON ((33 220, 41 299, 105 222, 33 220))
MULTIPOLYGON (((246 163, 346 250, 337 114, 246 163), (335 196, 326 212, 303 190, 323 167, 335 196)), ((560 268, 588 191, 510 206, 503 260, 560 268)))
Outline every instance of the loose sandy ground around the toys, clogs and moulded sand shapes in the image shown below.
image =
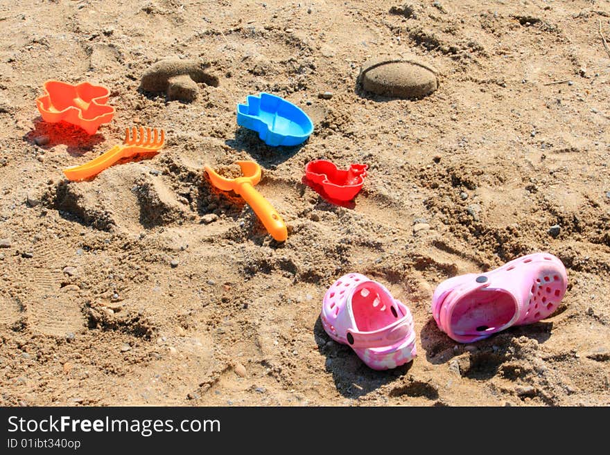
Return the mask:
POLYGON ((600 23, 610 37, 607 1, 0 0, 0 404, 607 406, 600 23), (360 91, 385 54, 435 66, 437 91, 360 91), (218 86, 141 91, 164 57, 208 62, 218 86), (108 87, 112 123, 44 123, 49 79, 108 87), (236 125, 261 91, 311 116, 304 145, 236 125), (64 178, 129 125, 164 128, 165 148, 64 178), (321 158, 369 165, 354 204, 302 183, 321 158), (263 167, 284 244, 211 188, 204 164, 236 159, 263 167), (568 269, 555 314, 467 346, 439 331, 436 285, 534 251, 568 269), (350 271, 410 307, 413 362, 373 371, 326 335, 322 297, 350 271))

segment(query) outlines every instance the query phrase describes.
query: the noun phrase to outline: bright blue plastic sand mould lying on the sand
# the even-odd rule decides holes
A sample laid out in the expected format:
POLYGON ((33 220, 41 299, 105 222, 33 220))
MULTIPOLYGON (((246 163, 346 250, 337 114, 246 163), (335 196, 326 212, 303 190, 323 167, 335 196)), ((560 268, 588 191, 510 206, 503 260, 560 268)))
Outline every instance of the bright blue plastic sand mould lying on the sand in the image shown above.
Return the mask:
POLYGON ((237 124, 258 132, 273 147, 299 145, 313 132, 313 123, 302 109, 270 93, 250 95, 245 105, 237 105, 237 124))

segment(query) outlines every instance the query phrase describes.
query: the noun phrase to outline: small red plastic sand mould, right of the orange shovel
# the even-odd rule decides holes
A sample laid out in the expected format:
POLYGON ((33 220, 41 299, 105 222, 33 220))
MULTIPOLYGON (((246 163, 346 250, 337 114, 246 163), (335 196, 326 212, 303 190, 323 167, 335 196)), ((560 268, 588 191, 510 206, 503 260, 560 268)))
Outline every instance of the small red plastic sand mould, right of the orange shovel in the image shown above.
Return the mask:
POLYGON ((354 199, 362 188, 368 167, 366 164, 351 164, 348 170, 340 170, 331 161, 317 159, 306 164, 305 177, 320 185, 331 199, 347 202, 354 199))

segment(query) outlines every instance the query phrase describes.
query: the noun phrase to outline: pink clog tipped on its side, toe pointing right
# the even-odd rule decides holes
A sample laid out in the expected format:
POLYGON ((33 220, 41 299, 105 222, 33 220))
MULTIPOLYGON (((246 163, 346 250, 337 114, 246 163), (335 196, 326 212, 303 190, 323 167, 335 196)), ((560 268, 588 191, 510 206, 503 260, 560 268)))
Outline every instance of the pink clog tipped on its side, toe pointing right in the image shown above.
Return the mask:
POLYGON ((445 280, 434 292, 432 312, 449 337, 471 343, 548 317, 564 298, 567 284, 561 260, 548 253, 530 254, 484 274, 445 280))

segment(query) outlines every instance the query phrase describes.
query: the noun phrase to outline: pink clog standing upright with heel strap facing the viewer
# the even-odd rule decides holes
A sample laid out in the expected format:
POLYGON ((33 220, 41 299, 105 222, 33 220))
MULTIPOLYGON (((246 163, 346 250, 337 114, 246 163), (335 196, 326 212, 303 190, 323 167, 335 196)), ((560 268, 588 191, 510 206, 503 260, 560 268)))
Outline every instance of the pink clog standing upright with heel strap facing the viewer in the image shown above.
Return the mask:
POLYGON ((344 275, 329 287, 320 319, 329 337, 350 346, 374 370, 395 368, 417 355, 410 310, 364 275, 344 275))

